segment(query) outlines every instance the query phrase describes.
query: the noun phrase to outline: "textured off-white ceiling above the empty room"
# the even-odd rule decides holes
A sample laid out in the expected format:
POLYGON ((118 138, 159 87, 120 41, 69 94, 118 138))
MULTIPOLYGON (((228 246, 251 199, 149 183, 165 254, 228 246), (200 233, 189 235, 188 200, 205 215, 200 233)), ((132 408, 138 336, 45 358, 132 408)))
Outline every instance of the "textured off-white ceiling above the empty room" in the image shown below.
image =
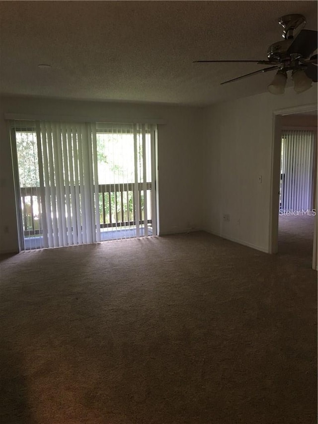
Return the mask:
POLYGON ((277 19, 317 1, 1 1, 6 94, 206 105, 266 91, 273 73, 229 85, 281 39, 277 19), (38 64, 50 64, 49 70, 38 64))

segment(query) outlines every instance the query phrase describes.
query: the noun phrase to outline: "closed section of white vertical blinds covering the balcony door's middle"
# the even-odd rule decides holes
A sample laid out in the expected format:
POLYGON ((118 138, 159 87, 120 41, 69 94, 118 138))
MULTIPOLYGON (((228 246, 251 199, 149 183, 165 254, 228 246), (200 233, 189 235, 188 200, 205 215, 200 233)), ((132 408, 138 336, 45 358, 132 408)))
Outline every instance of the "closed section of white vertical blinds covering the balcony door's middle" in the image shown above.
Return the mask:
POLYGON ((95 125, 42 121, 36 133, 44 247, 99 241, 95 125))

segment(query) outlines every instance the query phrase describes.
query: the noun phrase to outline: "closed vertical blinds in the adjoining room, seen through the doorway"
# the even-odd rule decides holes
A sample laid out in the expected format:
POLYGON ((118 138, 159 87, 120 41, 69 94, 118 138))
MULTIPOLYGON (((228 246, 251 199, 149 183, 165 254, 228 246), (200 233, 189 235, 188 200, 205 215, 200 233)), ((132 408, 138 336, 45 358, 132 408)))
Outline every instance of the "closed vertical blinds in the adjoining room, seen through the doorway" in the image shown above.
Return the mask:
POLYGON ((314 150, 314 131, 282 132, 281 210, 301 211, 312 208, 314 150))

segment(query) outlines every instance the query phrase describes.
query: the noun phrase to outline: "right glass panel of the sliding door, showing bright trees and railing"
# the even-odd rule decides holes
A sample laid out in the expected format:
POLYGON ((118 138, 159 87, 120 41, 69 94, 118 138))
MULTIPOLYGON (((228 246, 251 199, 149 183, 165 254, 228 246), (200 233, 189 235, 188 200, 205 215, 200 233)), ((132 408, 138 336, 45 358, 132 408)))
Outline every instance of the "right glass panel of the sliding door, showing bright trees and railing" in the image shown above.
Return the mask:
POLYGON ((157 234, 155 126, 97 124, 102 240, 157 234))

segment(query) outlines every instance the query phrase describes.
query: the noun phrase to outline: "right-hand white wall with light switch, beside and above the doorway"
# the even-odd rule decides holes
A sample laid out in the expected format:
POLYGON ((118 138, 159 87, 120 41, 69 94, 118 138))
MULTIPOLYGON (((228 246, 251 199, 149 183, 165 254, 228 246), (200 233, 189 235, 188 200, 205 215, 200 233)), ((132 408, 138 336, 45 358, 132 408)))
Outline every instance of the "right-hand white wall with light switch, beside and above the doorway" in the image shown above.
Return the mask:
POLYGON ((313 103, 316 87, 301 94, 288 88, 282 96, 263 93, 204 110, 203 228, 269 251, 273 111, 313 103))

